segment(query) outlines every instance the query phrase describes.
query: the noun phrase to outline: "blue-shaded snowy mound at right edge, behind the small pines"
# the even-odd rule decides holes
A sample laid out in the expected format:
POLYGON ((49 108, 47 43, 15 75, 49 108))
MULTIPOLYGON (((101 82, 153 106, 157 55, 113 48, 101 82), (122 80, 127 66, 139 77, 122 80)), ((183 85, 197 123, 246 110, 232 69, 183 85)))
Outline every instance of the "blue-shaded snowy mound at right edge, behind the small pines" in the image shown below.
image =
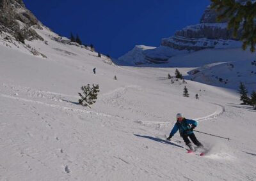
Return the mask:
POLYGON ((191 72, 191 78, 220 87, 237 89, 240 82, 246 85, 249 92, 256 90, 255 61, 237 61, 221 64, 209 64, 191 72))

